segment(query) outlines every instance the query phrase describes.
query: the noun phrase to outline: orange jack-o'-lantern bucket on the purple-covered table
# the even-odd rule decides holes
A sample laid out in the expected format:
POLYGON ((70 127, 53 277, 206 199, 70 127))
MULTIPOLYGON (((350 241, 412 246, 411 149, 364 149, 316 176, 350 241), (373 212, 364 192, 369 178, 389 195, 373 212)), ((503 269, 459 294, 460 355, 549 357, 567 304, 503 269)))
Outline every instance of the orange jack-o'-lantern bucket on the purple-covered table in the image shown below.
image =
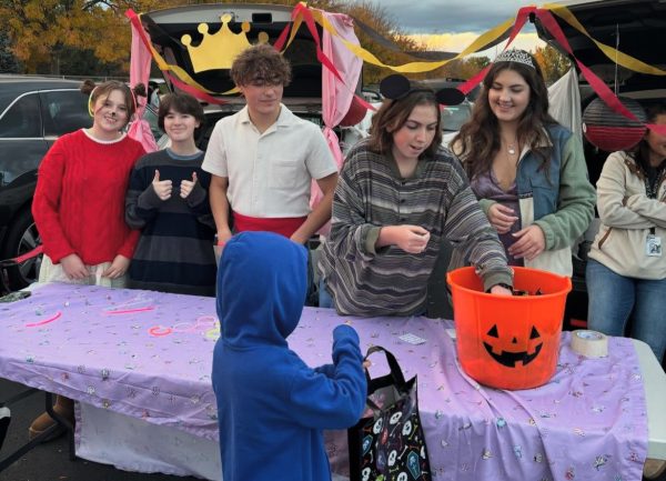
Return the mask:
POLYGON ((514 290, 527 295, 485 293, 474 268, 448 272, 458 360, 482 384, 529 389, 555 374, 569 278, 514 267, 514 290), (537 294, 538 291, 538 294, 537 294))

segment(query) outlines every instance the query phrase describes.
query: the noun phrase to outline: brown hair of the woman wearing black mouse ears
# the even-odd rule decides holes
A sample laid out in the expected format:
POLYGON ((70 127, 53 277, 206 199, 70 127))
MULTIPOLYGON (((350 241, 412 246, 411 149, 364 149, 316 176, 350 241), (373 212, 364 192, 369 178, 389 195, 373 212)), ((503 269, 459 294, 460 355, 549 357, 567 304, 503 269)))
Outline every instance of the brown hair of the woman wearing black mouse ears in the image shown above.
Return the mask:
POLYGON ((400 99, 385 99, 372 118, 369 148, 373 152, 386 153, 393 147, 393 133, 402 128, 416 106, 433 106, 437 114, 435 137, 423 152, 433 157, 442 143, 440 103, 432 89, 413 89, 400 99))

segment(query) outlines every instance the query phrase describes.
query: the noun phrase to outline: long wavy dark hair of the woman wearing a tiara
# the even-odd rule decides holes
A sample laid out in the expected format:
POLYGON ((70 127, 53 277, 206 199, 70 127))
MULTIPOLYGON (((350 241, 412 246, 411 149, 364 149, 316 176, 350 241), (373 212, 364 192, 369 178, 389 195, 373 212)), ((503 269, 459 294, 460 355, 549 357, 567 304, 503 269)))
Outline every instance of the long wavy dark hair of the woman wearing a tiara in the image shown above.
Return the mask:
POLYGON ((539 169, 548 171, 551 149, 543 148, 544 144, 549 143, 544 128, 557 122, 548 114, 548 90, 534 58, 533 63, 535 67, 519 62, 496 62, 483 80, 483 89, 474 103, 472 119, 461 127, 460 132, 452 141, 455 152, 463 160, 470 179, 488 172, 493 159, 500 151, 502 142, 500 123, 491 109, 488 91, 500 72, 504 70, 518 73, 529 86, 529 102, 518 121, 517 140, 519 146, 529 146, 542 159, 539 169))

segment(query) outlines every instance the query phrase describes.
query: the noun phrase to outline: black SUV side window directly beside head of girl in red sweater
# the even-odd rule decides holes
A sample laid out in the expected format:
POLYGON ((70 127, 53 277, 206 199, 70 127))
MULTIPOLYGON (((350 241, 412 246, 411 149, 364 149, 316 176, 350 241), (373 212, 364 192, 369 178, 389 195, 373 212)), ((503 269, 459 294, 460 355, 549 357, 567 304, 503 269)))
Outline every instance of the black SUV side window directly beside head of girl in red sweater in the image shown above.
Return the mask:
POLYGON ((40 94, 46 137, 60 137, 92 124, 88 113, 88 98, 80 91, 54 90, 40 94))

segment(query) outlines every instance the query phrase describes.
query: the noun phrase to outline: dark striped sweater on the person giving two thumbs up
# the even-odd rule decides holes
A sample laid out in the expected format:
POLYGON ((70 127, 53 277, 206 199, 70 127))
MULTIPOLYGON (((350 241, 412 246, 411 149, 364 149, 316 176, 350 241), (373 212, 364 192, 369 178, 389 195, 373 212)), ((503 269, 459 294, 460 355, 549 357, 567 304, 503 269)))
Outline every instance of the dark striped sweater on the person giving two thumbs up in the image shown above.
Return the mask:
POLYGON ((208 200, 211 176, 201 170, 203 152, 178 157, 162 150, 142 157, 130 178, 125 221, 141 229, 130 264, 129 285, 184 294, 215 295, 216 264, 213 253, 214 221, 208 200), (171 180, 171 198, 162 201, 152 181, 171 180), (186 199, 180 197, 182 180, 198 182, 186 199))

